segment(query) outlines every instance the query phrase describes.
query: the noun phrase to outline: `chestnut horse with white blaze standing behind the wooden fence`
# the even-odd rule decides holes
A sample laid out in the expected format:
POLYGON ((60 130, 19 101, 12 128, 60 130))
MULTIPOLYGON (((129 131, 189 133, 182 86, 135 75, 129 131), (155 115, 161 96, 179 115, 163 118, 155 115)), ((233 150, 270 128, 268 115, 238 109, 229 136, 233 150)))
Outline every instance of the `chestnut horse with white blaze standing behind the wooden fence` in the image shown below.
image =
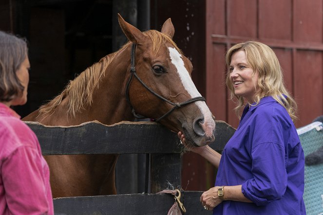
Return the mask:
MULTIPOLYGON (((182 131, 192 147, 212 142, 214 117, 191 80, 190 60, 171 39, 171 19, 161 32, 141 32, 120 15, 118 20, 129 42, 81 72, 61 94, 23 120, 62 126, 97 120, 111 125, 134 121, 140 114, 182 131)), ((53 197, 116 194, 117 157, 45 156, 53 197)))

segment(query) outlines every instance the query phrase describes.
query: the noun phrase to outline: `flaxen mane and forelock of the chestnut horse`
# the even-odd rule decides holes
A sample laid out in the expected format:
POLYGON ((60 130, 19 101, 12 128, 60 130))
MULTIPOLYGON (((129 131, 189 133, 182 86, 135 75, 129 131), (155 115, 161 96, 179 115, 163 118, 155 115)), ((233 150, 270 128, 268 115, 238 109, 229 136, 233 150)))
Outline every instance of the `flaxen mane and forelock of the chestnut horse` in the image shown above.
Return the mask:
MULTIPOLYGON (((149 36, 152 39, 153 54, 157 54, 159 48, 162 44, 170 42, 172 46, 176 48, 178 52, 181 50, 176 46, 172 41, 171 37, 160 33, 155 30, 150 30, 143 32, 144 35, 149 36)), ((77 112, 84 110, 85 107, 88 107, 93 102, 93 91, 95 88, 99 87, 100 80, 104 77, 105 71, 109 64, 113 61, 114 56, 126 49, 132 43, 128 41, 123 47, 121 47, 117 52, 106 55, 101 58, 99 62, 93 64, 91 67, 88 67, 85 71, 81 72, 74 80, 71 80, 65 89, 57 95, 53 100, 49 101, 47 104, 39 107, 38 116, 42 115, 43 117, 53 114, 59 104, 64 98, 68 96, 68 110, 67 115, 76 116, 77 112)), ((129 55, 130 56, 130 55, 129 55)))

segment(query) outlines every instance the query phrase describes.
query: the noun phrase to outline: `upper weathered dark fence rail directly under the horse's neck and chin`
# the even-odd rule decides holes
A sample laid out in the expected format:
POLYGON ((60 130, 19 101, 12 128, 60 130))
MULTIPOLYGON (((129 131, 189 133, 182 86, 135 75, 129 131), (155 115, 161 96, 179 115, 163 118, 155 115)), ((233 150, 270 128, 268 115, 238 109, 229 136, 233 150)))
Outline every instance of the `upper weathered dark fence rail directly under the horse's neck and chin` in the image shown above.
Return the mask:
MULTIPOLYGON (((152 122, 121 122, 103 125, 88 122, 78 126, 45 126, 26 122, 36 133, 43 155, 181 153, 177 134, 152 122)), ((216 121, 215 141, 221 151, 235 129, 216 121)))

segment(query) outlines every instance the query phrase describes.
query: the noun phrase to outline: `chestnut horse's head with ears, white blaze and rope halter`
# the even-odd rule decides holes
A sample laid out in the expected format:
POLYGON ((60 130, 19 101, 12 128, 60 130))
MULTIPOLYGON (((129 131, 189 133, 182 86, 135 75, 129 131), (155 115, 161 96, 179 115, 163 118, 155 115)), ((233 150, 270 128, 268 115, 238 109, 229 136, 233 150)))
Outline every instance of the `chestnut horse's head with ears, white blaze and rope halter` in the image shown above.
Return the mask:
POLYGON ((141 32, 120 15, 119 24, 133 45, 133 63, 125 85, 137 114, 182 131, 186 141, 203 146, 214 140, 215 122, 190 73, 192 64, 172 41, 174 26, 165 21, 161 32, 141 32), (134 70, 135 68, 135 70, 134 70), (131 78, 132 77, 132 78, 131 78))

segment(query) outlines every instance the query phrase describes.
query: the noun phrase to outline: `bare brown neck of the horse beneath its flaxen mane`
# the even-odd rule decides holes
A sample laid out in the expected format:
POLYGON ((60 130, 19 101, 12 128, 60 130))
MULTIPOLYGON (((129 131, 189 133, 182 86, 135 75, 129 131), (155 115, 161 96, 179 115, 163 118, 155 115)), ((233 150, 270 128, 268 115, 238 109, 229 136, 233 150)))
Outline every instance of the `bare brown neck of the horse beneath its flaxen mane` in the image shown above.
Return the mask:
POLYGON ((67 96, 51 116, 39 118, 37 121, 44 125, 79 125, 94 120, 111 125, 120 121, 133 121, 134 117, 125 97, 129 64, 129 50, 117 53, 108 65, 98 88, 93 91, 92 104, 85 107, 85 110, 77 112, 75 117, 67 115, 69 103, 67 96), (125 59, 129 60, 125 62, 125 59))

